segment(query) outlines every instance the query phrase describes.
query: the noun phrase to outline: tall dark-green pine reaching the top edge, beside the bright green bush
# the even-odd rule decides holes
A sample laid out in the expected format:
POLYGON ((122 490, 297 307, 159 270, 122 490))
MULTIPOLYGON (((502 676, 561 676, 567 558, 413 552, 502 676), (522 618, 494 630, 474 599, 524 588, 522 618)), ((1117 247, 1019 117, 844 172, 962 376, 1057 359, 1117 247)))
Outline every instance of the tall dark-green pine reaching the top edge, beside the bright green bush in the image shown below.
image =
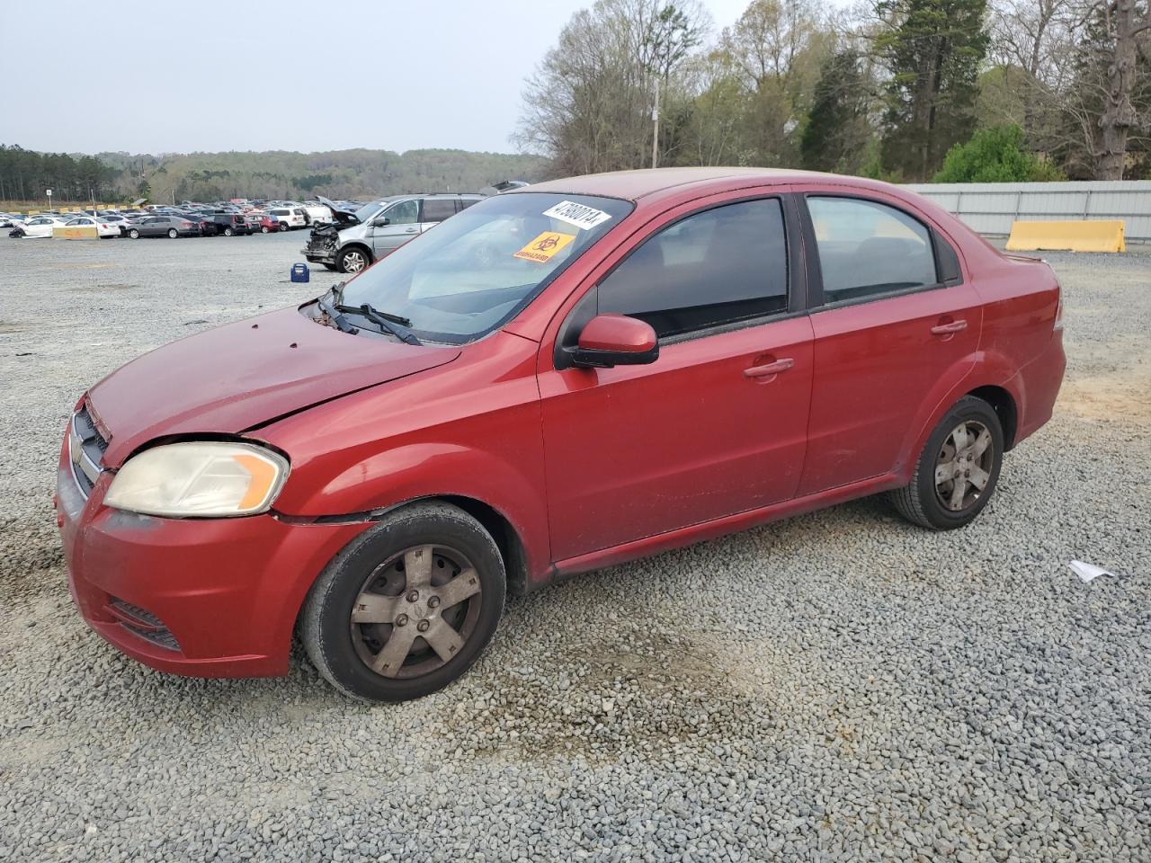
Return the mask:
POLYGON ((893 24, 876 40, 892 75, 882 150, 887 171, 924 181, 975 129, 986 8, 986 0, 877 2, 893 24))

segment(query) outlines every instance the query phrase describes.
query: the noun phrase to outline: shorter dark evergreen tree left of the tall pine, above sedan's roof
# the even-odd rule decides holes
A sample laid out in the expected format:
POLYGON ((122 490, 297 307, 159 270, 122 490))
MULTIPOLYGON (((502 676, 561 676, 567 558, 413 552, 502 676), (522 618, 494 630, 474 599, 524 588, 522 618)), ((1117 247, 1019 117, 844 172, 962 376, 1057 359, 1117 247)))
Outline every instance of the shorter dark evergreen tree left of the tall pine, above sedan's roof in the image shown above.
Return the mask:
POLYGON ((868 96, 859 52, 844 48, 823 62, 811 113, 800 139, 805 168, 860 173, 871 136, 867 119, 868 96))

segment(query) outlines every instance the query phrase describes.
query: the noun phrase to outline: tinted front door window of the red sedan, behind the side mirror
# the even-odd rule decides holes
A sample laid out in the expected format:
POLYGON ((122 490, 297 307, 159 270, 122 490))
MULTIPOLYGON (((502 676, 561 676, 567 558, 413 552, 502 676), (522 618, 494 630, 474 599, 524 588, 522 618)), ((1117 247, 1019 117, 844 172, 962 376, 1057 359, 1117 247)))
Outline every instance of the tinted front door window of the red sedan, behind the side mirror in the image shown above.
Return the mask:
POLYGON ((643 240, 599 289, 599 311, 639 318, 660 338, 787 310, 778 198, 681 219, 643 240))

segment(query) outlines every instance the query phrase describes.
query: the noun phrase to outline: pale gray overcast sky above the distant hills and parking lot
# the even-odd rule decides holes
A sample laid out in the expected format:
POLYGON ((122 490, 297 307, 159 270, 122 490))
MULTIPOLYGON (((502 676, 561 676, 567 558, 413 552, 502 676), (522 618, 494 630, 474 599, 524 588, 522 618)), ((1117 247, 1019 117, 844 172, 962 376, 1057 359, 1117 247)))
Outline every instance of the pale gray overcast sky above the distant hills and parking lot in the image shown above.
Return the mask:
MULTIPOLYGON (((703 1, 717 30, 748 2, 703 1)), ((6 2, 3 64, 20 71, 0 86, 0 143, 511 152, 524 77, 589 5, 6 2)))

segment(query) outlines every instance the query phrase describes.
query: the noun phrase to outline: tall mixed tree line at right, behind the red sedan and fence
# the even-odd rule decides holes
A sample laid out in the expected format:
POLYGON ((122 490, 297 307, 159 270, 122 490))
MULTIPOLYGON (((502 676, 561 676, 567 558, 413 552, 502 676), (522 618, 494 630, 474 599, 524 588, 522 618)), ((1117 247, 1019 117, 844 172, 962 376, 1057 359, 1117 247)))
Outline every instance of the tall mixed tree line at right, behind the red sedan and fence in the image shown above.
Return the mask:
POLYGON ((517 139, 561 175, 646 167, 654 144, 664 166, 897 182, 1151 177, 1151 12, 753 0, 714 32, 699 0, 597 0, 527 81, 517 139))

